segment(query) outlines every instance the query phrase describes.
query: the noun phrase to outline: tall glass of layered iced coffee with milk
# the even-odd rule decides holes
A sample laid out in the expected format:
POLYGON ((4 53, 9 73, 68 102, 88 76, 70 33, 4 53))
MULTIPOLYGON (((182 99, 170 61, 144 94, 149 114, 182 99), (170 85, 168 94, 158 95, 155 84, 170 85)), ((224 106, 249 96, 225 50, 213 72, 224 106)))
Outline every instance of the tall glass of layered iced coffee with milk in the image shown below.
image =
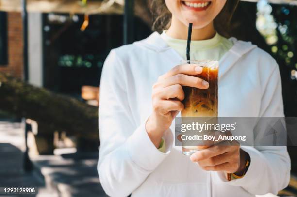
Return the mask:
MULTIPOLYGON (((184 110, 181 117, 217 117, 218 116, 218 61, 184 61, 185 63, 197 64, 203 68, 197 77, 209 83, 208 89, 198 89, 183 86, 184 110)), ((203 122, 201 122, 203 123, 203 122)), ((182 152, 191 155, 197 150, 208 146, 182 146, 182 152)))

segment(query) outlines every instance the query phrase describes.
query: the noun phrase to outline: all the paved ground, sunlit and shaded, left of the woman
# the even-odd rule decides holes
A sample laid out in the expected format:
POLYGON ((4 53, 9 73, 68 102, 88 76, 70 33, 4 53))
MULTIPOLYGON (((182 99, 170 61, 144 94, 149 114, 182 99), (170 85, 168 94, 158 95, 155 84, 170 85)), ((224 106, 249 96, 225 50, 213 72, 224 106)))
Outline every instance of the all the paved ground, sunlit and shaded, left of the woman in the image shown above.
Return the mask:
POLYGON ((38 156, 32 159, 34 170, 27 173, 23 170, 24 150, 24 126, 0 121, 0 187, 34 186, 38 188, 36 197, 106 196, 97 174, 97 152, 64 158, 38 156))

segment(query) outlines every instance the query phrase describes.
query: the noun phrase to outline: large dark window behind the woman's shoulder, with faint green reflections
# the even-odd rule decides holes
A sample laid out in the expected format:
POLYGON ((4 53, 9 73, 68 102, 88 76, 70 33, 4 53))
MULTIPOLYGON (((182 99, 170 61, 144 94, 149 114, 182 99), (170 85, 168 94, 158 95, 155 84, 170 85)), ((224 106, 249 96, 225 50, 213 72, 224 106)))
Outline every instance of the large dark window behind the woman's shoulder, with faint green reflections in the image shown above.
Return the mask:
MULTIPOLYGON (((44 87, 80 99, 82 86, 99 86, 101 70, 112 48, 123 44, 122 15, 91 15, 81 31, 84 15, 43 14, 44 87)), ((135 40, 151 31, 135 18, 135 40)))

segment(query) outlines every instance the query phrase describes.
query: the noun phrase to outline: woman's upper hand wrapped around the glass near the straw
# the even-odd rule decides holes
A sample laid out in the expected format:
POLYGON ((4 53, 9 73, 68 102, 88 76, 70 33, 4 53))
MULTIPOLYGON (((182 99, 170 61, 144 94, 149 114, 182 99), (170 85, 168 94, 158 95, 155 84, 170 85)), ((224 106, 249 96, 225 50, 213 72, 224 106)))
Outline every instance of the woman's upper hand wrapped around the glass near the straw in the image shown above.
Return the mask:
POLYGON ((156 148, 159 148, 164 132, 170 127, 173 119, 183 110, 184 99, 182 86, 207 89, 209 83, 194 75, 202 72, 196 64, 183 64, 172 68, 158 78, 152 87, 153 112, 146 122, 148 136, 156 148))

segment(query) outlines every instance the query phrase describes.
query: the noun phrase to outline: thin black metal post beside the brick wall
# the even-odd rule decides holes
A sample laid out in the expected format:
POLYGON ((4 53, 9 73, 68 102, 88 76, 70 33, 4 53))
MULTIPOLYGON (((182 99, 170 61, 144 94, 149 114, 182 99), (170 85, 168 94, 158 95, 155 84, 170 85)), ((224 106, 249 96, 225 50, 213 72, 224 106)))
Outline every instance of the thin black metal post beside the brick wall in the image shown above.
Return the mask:
MULTIPOLYGON (((22 0, 22 19, 23 19, 23 64, 24 64, 24 81, 28 82, 29 73, 28 73, 28 12, 27 12, 27 0, 22 0)), ((31 171, 32 163, 28 154, 28 144, 27 136, 30 125, 25 122, 25 145, 26 150, 24 152, 24 170, 31 171)))

